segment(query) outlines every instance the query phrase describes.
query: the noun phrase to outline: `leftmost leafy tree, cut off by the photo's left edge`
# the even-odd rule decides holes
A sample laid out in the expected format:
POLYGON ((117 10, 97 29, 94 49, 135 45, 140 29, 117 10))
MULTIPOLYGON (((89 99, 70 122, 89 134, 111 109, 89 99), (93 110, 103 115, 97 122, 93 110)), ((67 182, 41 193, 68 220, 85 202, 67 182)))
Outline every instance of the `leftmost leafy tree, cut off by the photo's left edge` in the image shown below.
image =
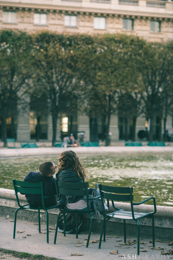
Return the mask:
POLYGON ((31 35, 22 31, 0 32, 0 116, 4 146, 7 146, 7 116, 12 117, 14 128, 17 105, 20 105, 21 109, 26 105, 23 98, 31 88, 32 59, 31 35))

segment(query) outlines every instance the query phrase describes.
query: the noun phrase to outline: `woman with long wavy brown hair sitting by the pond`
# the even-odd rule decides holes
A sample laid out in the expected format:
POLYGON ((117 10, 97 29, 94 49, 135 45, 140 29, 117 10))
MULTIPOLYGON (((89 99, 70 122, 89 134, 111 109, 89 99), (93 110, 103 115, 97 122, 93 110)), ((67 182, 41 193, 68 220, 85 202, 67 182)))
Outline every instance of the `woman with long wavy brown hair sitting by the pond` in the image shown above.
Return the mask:
MULTIPOLYGON (((66 183, 82 183, 88 177, 85 168, 81 165, 79 158, 73 151, 64 151, 60 154, 58 163, 57 181, 66 183)), ((94 189, 88 189, 92 194, 94 189)), ((89 203, 91 209, 93 203, 89 203)), ((58 206, 68 211, 87 211, 87 203, 84 196, 59 195, 58 206), (61 206, 62 205, 62 206, 61 206)))

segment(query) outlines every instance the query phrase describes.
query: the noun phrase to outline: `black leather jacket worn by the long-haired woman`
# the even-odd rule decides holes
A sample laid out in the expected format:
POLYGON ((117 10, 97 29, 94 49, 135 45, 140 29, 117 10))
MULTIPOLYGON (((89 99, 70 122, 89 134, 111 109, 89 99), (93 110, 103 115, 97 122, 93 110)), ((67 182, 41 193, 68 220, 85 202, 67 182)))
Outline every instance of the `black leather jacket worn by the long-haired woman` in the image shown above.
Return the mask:
MULTIPOLYGON (((83 179, 79 178, 77 172, 74 172, 72 168, 67 170, 62 170, 56 174, 57 181, 68 182, 68 183, 81 183, 84 182, 83 179)), ((72 184, 73 187, 73 184, 72 184)), ((83 199, 83 196, 65 196, 59 195, 58 205, 66 205, 68 203, 76 203, 83 199)))

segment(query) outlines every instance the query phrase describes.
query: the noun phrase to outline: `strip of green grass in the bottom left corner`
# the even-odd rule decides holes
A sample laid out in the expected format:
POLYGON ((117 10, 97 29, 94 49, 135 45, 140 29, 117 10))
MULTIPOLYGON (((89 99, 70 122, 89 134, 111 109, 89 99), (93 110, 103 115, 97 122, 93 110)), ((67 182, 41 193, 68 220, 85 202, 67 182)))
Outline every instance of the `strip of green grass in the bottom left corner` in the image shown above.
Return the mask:
POLYGON ((25 253, 25 252, 17 252, 17 251, 13 251, 13 250, 7 250, 7 249, 2 249, 0 248, 0 252, 4 253, 4 254, 8 254, 8 255, 12 255, 14 257, 18 257, 20 259, 28 259, 28 260, 61 260, 59 258, 54 258, 54 257, 45 257, 43 255, 32 255, 29 253, 25 253))

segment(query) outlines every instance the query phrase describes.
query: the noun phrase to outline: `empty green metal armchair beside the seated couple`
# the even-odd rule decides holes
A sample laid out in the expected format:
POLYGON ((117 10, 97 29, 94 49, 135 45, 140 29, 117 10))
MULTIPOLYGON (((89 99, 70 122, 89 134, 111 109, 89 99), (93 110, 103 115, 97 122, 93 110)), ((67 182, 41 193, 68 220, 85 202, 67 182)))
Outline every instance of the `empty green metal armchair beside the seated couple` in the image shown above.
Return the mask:
POLYGON ((106 222, 110 218, 119 218, 123 219, 124 222, 124 243, 126 243, 126 219, 131 219, 135 220, 138 226, 138 247, 137 247, 137 254, 139 255, 139 244, 140 244, 140 224, 139 224, 139 219, 140 218, 151 218, 152 219, 152 228, 153 228, 153 247, 155 247, 155 234, 154 234, 154 214, 156 213, 156 203, 155 203, 155 198, 150 197, 147 198, 146 200, 141 201, 140 203, 133 203, 133 187, 112 187, 112 186, 106 186, 106 185, 101 185, 99 184, 99 190, 100 190, 100 196, 102 200, 102 205, 103 205, 103 222, 102 222, 102 230, 100 234, 100 242, 98 248, 101 247, 102 243, 102 235, 104 231, 104 238, 103 241, 105 242, 105 234, 106 234, 106 222), (116 194, 111 194, 111 193, 116 193, 116 194), (103 198, 107 199, 108 202, 108 207, 109 207, 109 200, 112 201, 112 206, 114 209, 117 211, 112 212, 112 213, 106 213, 104 209, 104 202, 103 198), (133 209, 134 205, 141 205, 142 203, 145 203, 148 200, 153 199, 154 203, 154 211, 153 212, 136 212, 133 209), (131 211, 125 211, 123 209, 119 209, 115 207, 114 205, 114 200, 116 201, 130 201, 131 204, 131 211))

